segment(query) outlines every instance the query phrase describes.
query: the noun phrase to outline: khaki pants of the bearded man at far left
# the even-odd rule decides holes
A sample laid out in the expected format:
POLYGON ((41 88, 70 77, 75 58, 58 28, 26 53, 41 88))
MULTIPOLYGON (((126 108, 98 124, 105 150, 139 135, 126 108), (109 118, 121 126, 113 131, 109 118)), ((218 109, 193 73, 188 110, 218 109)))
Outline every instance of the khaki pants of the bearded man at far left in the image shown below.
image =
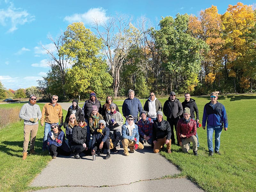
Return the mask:
POLYGON ((36 143, 36 133, 38 130, 38 124, 36 125, 24 125, 24 142, 23 142, 23 152, 28 150, 28 142, 30 135, 30 150, 35 148, 36 143))

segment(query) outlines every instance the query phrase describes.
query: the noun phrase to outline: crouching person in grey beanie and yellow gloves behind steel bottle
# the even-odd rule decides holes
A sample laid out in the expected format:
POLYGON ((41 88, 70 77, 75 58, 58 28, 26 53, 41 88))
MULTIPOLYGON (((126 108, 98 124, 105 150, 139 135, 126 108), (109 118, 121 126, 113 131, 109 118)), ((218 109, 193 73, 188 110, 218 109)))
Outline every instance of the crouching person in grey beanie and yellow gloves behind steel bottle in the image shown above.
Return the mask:
POLYGON ((99 121, 99 128, 95 129, 92 134, 92 155, 95 154, 97 149, 104 151, 107 149, 107 156, 105 159, 110 157, 110 141, 109 141, 109 129, 106 127, 106 122, 104 120, 99 121))

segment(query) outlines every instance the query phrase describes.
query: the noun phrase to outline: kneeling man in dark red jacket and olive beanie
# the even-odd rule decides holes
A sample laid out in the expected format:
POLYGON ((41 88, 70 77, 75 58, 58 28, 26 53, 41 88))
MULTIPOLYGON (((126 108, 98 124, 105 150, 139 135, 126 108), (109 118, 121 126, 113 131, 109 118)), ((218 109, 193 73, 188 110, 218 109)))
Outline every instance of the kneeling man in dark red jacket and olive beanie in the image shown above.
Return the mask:
POLYGON ((189 142, 192 142, 195 156, 197 156, 196 129, 196 121, 190 118, 190 109, 186 107, 183 112, 183 118, 177 123, 178 140, 184 153, 188 153, 189 142))

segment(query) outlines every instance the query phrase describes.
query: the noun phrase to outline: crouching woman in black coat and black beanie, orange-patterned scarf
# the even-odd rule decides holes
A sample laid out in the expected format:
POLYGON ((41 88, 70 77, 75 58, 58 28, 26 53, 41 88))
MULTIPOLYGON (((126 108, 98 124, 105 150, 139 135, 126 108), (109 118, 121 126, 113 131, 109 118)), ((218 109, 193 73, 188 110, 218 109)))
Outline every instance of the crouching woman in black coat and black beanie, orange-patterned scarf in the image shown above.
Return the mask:
POLYGON ((87 140, 87 127, 83 116, 79 117, 78 125, 74 126, 72 131, 71 151, 76 159, 81 159, 79 153, 88 149, 89 140, 87 140))

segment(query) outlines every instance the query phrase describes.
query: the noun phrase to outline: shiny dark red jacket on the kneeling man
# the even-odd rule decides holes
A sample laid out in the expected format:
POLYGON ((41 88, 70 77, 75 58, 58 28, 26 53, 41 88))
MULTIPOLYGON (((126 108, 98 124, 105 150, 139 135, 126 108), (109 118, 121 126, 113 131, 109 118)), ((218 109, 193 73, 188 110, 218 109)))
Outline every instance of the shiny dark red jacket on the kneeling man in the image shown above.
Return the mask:
POLYGON ((181 142, 180 134, 186 135, 187 138, 196 135, 196 121, 190 118, 190 121, 186 123, 183 118, 181 118, 177 123, 177 134, 178 140, 181 142))

